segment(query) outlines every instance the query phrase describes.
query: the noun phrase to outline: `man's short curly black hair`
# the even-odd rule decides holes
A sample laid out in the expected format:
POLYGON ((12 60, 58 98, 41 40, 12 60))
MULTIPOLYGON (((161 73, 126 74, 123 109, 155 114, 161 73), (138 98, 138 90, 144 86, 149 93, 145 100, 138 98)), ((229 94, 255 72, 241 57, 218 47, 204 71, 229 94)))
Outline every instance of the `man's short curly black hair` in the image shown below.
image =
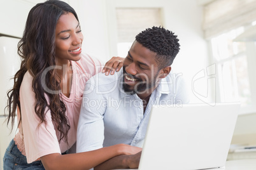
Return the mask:
POLYGON ((150 51, 157 53, 155 60, 158 63, 159 70, 171 65, 180 51, 177 36, 163 27, 152 27, 143 30, 136 36, 136 41, 150 49, 150 51))

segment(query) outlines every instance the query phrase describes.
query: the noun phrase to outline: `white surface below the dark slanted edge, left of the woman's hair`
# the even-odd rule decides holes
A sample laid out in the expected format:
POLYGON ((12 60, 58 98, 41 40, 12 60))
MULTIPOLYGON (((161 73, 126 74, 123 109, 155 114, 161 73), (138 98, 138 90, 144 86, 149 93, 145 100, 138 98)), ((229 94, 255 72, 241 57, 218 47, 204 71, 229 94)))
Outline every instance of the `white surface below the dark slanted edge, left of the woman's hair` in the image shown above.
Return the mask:
MULTIPOLYGON (((7 103, 6 92, 13 86, 13 79, 11 78, 20 67, 20 60, 17 55, 18 41, 19 39, 17 38, 0 37, 0 78, 2 82, 0 84, 0 158, 3 158, 6 147, 15 134, 15 130, 10 134, 10 129, 6 128, 6 122, 4 122, 4 108, 7 103)), ((0 166, 1 163, 2 159, 0 166)))

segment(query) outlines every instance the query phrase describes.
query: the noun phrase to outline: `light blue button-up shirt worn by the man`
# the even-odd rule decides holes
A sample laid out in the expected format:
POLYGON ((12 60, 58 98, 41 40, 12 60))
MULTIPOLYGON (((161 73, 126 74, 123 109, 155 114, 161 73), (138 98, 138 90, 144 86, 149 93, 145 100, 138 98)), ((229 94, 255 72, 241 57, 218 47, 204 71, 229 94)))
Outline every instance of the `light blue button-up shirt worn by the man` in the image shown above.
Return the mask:
POLYGON ((78 121, 76 152, 118 143, 143 147, 152 105, 188 103, 182 74, 171 72, 153 91, 143 114, 143 101, 122 89, 122 70, 97 74, 87 81, 78 121))

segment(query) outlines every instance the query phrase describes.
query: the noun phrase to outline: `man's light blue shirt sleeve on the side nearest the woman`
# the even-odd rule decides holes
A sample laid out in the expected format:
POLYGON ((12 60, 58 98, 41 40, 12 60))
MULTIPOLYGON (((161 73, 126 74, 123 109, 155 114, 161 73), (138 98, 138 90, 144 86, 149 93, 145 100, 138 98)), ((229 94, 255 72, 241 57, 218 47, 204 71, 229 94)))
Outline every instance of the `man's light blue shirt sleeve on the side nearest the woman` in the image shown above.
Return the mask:
POLYGON ((101 101, 103 101, 103 96, 96 93, 95 80, 92 77, 87 81, 83 94, 78 120, 76 152, 86 152, 103 147, 105 108, 101 101))

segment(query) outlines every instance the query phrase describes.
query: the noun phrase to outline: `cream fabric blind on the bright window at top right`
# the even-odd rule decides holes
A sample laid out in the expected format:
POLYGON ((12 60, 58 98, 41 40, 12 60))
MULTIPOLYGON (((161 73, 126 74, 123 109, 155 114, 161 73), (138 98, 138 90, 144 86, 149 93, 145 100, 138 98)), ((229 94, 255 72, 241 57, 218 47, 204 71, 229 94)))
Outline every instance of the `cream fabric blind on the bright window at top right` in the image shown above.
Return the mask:
POLYGON ((204 37, 248 25, 256 20, 256 0, 215 0, 204 5, 204 37))

